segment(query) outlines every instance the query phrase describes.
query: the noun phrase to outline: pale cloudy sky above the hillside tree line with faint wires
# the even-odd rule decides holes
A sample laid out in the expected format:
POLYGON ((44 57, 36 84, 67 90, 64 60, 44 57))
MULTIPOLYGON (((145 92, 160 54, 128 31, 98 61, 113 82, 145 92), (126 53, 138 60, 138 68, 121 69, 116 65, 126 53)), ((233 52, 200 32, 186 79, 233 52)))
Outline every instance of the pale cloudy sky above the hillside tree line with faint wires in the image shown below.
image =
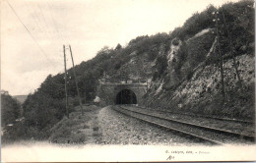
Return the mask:
MULTIPOLYGON (((29 94, 51 74, 64 72, 63 45, 75 64, 102 47, 139 35, 169 32, 193 13, 237 0, 3 0, 1 89, 29 94)), ((71 59, 67 53, 67 66, 71 59)))

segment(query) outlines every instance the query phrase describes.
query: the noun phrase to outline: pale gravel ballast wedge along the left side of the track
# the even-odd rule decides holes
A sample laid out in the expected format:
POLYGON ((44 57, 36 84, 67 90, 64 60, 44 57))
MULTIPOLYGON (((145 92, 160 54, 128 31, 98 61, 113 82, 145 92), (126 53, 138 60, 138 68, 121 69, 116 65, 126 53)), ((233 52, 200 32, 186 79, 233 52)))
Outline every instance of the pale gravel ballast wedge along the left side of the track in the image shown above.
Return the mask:
POLYGON ((98 113, 103 144, 154 144, 154 145, 195 145, 189 138, 165 131, 148 123, 130 118, 111 109, 102 108, 98 113))

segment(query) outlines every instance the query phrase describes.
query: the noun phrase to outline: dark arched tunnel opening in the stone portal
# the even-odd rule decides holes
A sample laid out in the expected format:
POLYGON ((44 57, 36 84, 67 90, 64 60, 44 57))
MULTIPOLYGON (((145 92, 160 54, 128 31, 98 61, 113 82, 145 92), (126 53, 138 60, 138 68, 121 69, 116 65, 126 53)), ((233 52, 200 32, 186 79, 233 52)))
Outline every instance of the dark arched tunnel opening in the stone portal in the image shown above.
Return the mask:
POLYGON ((129 89, 119 91, 115 99, 116 104, 137 104, 136 94, 129 89))

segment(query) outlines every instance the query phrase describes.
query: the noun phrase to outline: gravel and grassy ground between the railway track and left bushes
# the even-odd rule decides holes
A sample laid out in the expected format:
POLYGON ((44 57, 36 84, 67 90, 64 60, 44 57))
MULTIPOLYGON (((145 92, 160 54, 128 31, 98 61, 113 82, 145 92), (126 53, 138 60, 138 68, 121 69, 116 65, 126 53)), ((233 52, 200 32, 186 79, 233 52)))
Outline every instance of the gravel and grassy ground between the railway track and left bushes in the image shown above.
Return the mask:
POLYGON ((63 118, 51 130, 50 143, 63 145, 202 145, 175 132, 142 122, 114 110, 114 106, 99 108, 85 106, 85 114, 78 108, 63 118))

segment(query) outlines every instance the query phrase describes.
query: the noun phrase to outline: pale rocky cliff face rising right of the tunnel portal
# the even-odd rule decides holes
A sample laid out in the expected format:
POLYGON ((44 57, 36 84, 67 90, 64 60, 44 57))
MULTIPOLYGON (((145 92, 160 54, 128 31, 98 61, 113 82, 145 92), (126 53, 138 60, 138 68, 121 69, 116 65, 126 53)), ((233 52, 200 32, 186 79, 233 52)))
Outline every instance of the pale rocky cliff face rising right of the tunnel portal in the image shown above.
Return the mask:
POLYGON ((254 116, 254 55, 240 53, 224 59, 224 98, 220 61, 212 62, 217 53, 213 29, 207 28, 185 41, 171 40, 165 53, 166 75, 151 82, 144 104, 175 112, 252 119, 254 116), (224 102, 223 102, 224 100, 224 102))

